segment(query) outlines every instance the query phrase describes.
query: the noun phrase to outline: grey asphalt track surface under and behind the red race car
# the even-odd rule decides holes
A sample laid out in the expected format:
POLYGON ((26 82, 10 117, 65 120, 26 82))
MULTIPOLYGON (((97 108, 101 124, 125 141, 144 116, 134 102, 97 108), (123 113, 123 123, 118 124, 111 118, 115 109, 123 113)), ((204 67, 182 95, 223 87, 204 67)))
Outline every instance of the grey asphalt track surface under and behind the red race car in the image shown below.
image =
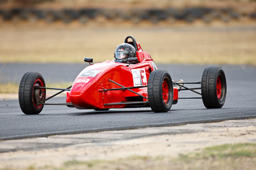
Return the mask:
MULTIPOLYGON (((20 81, 26 71, 38 71, 47 81, 73 81, 86 64, 0 64, 1 81, 20 81), (3 77, 4 75, 4 77, 3 77)), ((200 81, 205 66, 158 65, 173 80, 200 81)), ((159 127, 222 120, 256 118, 256 67, 221 66, 227 77, 227 100, 223 108, 207 110, 202 99, 180 99, 168 113, 154 113, 150 108, 77 110, 66 106, 45 106, 39 115, 24 115, 17 100, 0 101, 0 139, 20 139, 140 127, 159 127)), ((180 92, 180 97, 198 97, 180 92)), ((56 97, 52 103, 63 103, 56 97)))

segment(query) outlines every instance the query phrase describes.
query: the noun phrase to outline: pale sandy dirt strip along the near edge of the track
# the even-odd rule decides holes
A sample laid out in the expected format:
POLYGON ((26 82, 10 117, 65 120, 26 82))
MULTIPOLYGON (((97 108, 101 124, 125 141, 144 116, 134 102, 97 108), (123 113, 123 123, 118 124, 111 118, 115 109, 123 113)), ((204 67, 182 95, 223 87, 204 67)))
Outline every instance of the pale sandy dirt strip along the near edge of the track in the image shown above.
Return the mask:
MULTIPOLYGON (((256 143, 255 125, 256 119, 229 120, 212 124, 1 141, 0 150, 2 152, 4 148, 6 151, 9 148, 13 152, 0 153, 0 169, 39 167, 43 169, 54 169, 55 167, 100 169, 102 166, 106 169, 129 169, 131 167, 140 167, 141 169, 147 167, 149 169, 162 169, 163 167, 163 169, 168 169, 170 160, 180 154, 200 152, 205 147, 226 143, 256 143), (84 142, 80 143, 79 141, 84 142), (42 145, 38 145, 40 143, 42 145), (44 145, 49 145, 49 143, 54 143, 55 147, 45 149, 44 145), (28 148, 29 145, 33 145, 33 147, 28 148), (60 147, 61 145, 67 146, 60 147), (135 166, 130 164, 131 161, 134 162, 132 165, 135 166), (151 166, 146 164, 148 161, 151 166), (136 166, 136 164, 138 165, 136 166)), ((232 164, 232 160, 227 161, 232 164)), ((244 158, 244 162, 250 162, 249 160, 252 161, 252 159, 244 158)), ((219 161, 214 158, 207 161, 223 164, 225 167, 223 160, 219 161)), ((193 165, 193 162, 189 164, 193 165)), ((174 167, 180 168, 182 166, 174 167)), ((237 167, 239 167, 239 163, 237 163, 237 167)), ((182 169, 186 168, 182 167, 182 169)))

